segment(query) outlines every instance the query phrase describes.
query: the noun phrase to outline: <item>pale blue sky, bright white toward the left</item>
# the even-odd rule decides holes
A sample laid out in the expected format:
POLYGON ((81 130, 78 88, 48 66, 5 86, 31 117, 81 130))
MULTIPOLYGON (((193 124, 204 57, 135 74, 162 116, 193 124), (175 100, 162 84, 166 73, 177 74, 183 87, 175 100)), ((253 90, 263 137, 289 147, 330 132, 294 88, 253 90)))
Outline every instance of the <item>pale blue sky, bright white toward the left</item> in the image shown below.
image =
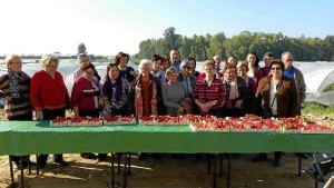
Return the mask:
POLYGON ((333 0, 0 0, 0 55, 139 52, 146 39, 250 32, 334 34, 333 0), (331 23, 332 22, 332 23, 331 23))

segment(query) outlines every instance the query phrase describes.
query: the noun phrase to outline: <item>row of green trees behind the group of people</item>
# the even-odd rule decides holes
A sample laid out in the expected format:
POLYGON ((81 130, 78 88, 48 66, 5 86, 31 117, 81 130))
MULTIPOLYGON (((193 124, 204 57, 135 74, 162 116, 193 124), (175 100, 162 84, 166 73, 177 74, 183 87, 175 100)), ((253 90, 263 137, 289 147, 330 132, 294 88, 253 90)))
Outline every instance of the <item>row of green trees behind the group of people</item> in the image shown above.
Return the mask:
POLYGON ((272 52, 274 58, 281 59, 284 51, 291 51, 297 61, 334 61, 334 36, 324 39, 306 38, 304 34, 291 38, 278 33, 243 31, 237 36, 227 38, 224 32, 214 36, 197 36, 191 38, 180 36, 170 27, 164 31, 159 39, 147 39, 139 43, 138 58, 149 58, 153 55, 169 56, 171 49, 178 49, 181 59, 194 57, 203 61, 219 55, 223 59, 229 56, 244 60, 248 52, 256 52, 262 57, 272 52))

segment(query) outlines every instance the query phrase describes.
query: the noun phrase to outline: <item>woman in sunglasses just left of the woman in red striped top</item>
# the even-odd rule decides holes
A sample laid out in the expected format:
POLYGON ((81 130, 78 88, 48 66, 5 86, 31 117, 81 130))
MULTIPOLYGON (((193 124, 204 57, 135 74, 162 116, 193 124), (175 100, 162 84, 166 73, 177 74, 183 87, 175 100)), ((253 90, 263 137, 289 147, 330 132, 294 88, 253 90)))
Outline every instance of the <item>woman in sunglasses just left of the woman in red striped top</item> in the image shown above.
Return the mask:
POLYGON ((191 95, 194 87, 196 85, 197 78, 189 72, 190 63, 188 61, 181 61, 179 66, 179 73, 177 76, 177 81, 183 82, 186 87, 187 95, 191 95))

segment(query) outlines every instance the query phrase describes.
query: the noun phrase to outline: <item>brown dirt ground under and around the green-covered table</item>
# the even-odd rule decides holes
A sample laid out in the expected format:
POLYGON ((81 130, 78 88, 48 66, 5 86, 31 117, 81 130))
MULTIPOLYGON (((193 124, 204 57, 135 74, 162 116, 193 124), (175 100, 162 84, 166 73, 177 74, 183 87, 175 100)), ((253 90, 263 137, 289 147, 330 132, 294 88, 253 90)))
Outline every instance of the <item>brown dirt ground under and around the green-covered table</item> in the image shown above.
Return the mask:
MULTIPOLYGON (((2 115, 2 111, 1 111, 2 115)), ((308 115, 312 119, 313 115, 308 115)), ((334 117, 334 116, 333 116, 334 117)), ((333 117, 316 118, 326 123, 333 123, 333 117)), ((273 167, 273 154, 268 154, 268 160, 252 162, 254 155, 240 155, 232 158, 232 188, 312 188, 314 180, 308 175, 297 176, 298 158, 295 154, 284 154, 281 167, 273 167)), ((151 156, 139 160, 137 154, 131 157, 131 175, 128 176, 129 188, 208 188, 213 186, 213 175, 207 172, 207 158, 205 155, 196 158, 194 155, 184 155, 181 158, 173 158, 161 155, 161 159, 151 156)), ((36 161, 35 156, 30 157, 36 161)), ((32 166, 31 175, 24 169, 26 188, 109 188, 111 182, 110 154, 107 161, 99 162, 95 159, 84 159, 78 154, 65 154, 68 167, 61 167, 52 162, 49 156, 47 168, 37 176, 36 166, 32 166)), ((303 167, 310 167, 312 159, 304 159, 303 167)), ((122 161, 121 161, 122 166, 122 161)), ((227 162, 224 159, 223 177, 217 178, 217 187, 226 187, 227 162)), ((116 187, 122 186, 121 174, 117 174, 116 187)), ((20 186, 20 171, 14 171, 16 186, 20 186)), ((0 156, 0 188, 9 188, 11 185, 8 156, 0 156)), ((323 187, 320 184, 318 187, 323 187)))

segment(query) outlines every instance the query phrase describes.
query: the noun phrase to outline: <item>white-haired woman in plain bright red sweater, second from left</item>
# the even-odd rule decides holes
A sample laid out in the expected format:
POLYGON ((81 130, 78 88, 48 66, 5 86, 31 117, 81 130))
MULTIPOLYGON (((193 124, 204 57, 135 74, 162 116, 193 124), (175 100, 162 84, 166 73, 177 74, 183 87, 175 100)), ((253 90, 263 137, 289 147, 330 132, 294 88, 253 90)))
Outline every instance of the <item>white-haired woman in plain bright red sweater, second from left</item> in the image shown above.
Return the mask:
MULTIPOLYGON (((65 117, 69 95, 60 72, 57 71, 59 59, 52 55, 41 58, 42 70, 31 78, 30 101, 38 120, 52 120, 65 117)), ((47 165, 48 155, 39 155, 37 162, 41 168, 47 165)), ((55 162, 67 166, 62 155, 55 155, 55 162)))

